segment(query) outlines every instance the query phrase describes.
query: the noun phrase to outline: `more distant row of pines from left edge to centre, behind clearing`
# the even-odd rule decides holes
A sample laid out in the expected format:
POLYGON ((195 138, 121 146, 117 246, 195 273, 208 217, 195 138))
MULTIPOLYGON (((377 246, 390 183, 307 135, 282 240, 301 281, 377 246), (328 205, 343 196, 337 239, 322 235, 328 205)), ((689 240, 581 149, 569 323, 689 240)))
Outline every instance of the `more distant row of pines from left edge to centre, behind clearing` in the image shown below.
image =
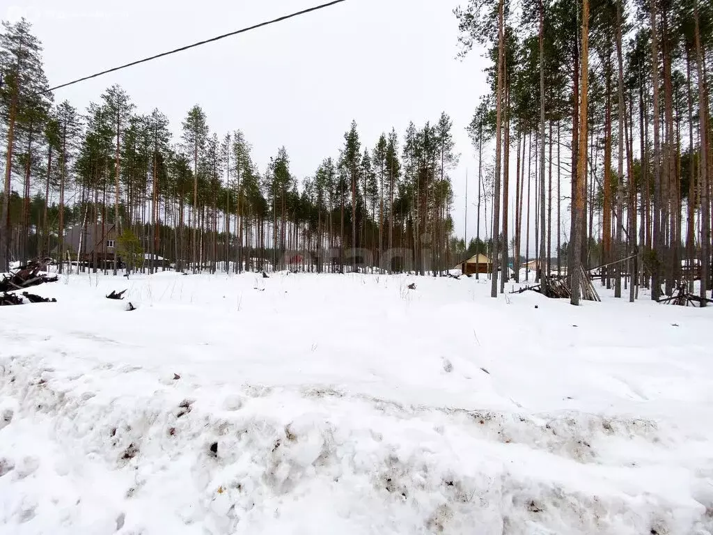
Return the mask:
POLYGON ((446 113, 371 144, 354 122, 339 154, 299 180, 285 148, 261 170, 245 135, 210 131, 200 106, 174 138, 163 113, 138 113, 119 86, 84 111, 55 104, 41 53, 27 21, 3 24, 0 270, 41 255, 76 258, 82 251, 64 240, 73 225, 130 233, 149 258, 179 270, 425 274, 456 262, 449 173, 458 155, 446 113))

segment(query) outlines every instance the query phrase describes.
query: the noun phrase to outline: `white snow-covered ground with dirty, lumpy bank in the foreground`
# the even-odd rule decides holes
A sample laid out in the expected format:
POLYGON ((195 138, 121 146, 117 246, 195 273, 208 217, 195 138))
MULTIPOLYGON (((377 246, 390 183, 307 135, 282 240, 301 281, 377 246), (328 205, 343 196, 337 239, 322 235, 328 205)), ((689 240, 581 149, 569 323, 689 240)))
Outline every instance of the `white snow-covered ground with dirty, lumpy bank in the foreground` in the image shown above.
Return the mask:
POLYGON ((406 275, 34 292, 0 308, 1 534, 713 534, 713 310, 406 275))

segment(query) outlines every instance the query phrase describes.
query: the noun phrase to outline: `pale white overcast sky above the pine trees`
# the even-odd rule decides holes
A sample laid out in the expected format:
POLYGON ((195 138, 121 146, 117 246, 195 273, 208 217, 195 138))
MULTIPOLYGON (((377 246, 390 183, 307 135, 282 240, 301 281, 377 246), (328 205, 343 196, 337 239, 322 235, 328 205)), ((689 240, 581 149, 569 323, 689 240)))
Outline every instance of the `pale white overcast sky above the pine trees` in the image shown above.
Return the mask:
MULTIPOLYGON (((324 0, 2 0, 43 42, 52 86, 324 0)), ((260 170, 285 146, 292 173, 312 175, 337 156, 352 119, 373 148, 395 127, 446 111, 461 163, 453 170, 456 233, 464 230, 466 170, 474 200, 477 159, 465 128, 486 92, 481 51, 458 54, 453 9, 463 0, 347 0, 324 11, 201 46, 57 91, 83 110, 119 83, 137 110, 160 108, 175 133, 195 103, 219 136, 240 128, 260 170)), ((474 208, 468 236, 475 235, 474 208)), ((482 231, 482 229, 481 229, 482 231)))

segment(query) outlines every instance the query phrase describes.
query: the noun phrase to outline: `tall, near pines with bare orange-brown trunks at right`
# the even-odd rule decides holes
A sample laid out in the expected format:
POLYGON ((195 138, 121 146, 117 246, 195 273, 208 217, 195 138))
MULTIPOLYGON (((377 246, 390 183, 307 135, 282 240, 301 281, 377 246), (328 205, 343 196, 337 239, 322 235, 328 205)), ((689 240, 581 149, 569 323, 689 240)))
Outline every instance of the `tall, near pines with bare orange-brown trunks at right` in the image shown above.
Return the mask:
POLYGON ((492 64, 470 131, 481 158, 496 148, 478 186, 492 199, 495 263, 508 265, 523 245, 527 254, 532 223, 540 273, 567 272, 573 302, 580 265, 601 266, 617 297, 628 284, 630 300, 640 285, 658 299, 682 282, 692 290, 694 278, 705 294, 712 5, 469 0, 456 9, 462 54, 485 46, 492 64))

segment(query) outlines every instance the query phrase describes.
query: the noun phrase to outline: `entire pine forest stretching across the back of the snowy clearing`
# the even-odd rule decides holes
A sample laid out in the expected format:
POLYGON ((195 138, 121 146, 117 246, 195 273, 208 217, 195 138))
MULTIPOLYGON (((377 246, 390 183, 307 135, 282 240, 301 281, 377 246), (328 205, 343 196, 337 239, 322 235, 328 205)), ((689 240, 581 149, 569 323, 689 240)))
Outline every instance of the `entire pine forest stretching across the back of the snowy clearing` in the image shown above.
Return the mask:
POLYGON ((170 124, 117 85, 84 110, 53 101, 31 24, 4 23, 0 270, 49 256, 60 272, 75 261, 116 274, 116 260, 76 263, 84 251, 66 243, 69 228, 96 225, 139 253, 126 267, 148 272, 158 263, 143 258, 194 272, 435 276, 485 253, 493 297, 511 273, 502 268, 528 260, 543 285, 543 274, 567 277, 573 304, 584 270, 630 300, 698 279, 707 295, 712 5, 469 0, 454 19, 460 54, 490 63, 468 128, 478 161, 468 243, 453 225, 460 155, 445 112, 384 125, 378 139, 355 121, 339 153, 297 177, 287 148, 260 165, 240 129, 212 131, 199 105, 170 124))

